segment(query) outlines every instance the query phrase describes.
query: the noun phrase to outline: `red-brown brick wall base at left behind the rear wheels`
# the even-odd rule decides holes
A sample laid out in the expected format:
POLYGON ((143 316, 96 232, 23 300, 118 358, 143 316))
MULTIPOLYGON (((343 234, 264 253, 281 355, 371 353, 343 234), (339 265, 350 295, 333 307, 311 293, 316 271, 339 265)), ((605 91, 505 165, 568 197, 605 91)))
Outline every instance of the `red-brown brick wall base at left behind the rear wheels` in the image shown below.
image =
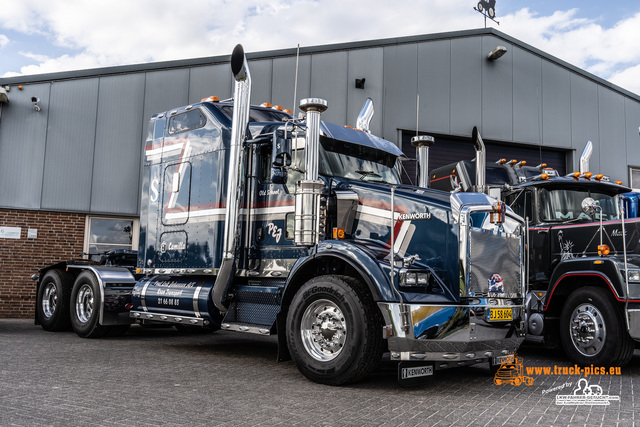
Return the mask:
POLYGON ((0 238, 0 318, 33 318, 36 284, 31 275, 58 261, 79 258, 85 215, 0 209, 0 227, 20 227, 20 239, 0 238), (27 239, 28 229, 38 237, 27 239))

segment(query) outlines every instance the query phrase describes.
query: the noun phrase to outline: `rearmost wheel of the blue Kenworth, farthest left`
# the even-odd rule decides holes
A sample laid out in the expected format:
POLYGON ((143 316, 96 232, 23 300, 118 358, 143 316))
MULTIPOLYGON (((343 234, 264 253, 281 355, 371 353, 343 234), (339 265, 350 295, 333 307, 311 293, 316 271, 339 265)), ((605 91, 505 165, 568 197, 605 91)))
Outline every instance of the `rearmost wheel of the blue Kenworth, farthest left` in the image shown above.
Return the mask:
POLYGON ((68 331, 71 328, 69 301, 73 276, 66 271, 49 270, 40 281, 36 296, 36 316, 45 331, 68 331))

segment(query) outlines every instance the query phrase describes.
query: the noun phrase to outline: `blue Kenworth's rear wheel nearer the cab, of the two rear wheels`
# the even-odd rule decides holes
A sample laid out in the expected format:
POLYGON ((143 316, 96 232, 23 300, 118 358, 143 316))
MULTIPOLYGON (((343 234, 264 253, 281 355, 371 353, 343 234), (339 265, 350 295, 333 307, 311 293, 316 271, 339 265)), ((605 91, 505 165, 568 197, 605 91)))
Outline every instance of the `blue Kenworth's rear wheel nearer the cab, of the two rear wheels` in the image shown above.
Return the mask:
POLYGON ((80 273, 71 292, 71 326, 82 338, 100 338, 111 331, 111 327, 98 324, 100 295, 100 285, 93 273, 80 273))

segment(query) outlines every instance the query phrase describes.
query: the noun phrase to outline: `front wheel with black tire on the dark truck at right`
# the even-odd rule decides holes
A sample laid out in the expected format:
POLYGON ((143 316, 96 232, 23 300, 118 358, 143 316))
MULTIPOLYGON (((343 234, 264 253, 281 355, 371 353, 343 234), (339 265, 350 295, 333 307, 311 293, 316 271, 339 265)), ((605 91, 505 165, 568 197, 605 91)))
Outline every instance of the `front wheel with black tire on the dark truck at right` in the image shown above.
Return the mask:
POLYGON ((560 316, 560 339, 567 357, 582 366, 624 366, 633 356, 622 310, 601 288, 569 295, 560 316))

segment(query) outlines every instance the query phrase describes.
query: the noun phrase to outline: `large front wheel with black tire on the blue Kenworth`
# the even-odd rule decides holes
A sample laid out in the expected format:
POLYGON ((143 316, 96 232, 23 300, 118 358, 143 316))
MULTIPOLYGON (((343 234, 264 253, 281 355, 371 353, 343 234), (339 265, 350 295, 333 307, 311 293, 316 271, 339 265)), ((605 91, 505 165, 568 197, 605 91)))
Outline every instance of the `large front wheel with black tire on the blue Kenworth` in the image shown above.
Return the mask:
POLYGON ((382 324, 382 315, 360 283, 316 277, 298 290, 287 313, 289 352, 311 381, 353 383, 382 358, 382 324))

